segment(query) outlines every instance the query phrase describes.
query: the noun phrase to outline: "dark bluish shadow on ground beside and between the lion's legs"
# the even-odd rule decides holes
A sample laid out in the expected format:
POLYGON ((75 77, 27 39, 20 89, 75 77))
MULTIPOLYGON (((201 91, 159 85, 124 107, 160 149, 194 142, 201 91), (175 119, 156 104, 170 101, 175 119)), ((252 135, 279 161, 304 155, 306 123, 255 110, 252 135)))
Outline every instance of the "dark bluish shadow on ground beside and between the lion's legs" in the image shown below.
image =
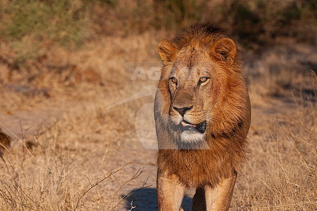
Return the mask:
MULTIPOLYGON (((132 211, 157 211, 157 190, 153 188, 146 188, 142 190, 132 190, 133 194, 125 199, 124 208, 129 211, 131 209, 131 202, 136 207, 132 211)), ((123 196, 122 196, 123 197, 123 196)), ((182 208, 184 211, 192 210, 192 198, 187 195, 184 196, 182 202, 182 208)))

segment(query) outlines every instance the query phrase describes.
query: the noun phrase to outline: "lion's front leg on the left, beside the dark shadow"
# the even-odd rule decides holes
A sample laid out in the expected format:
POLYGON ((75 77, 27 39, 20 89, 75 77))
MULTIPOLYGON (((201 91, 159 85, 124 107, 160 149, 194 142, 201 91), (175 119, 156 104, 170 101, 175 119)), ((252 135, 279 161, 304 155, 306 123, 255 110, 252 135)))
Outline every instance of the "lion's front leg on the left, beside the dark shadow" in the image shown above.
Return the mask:
POLYGON ((176 175, 168 175, 158 170, 157 190, 159 211, 182 211, 180 206, 185 187, 178 182, 176 175))

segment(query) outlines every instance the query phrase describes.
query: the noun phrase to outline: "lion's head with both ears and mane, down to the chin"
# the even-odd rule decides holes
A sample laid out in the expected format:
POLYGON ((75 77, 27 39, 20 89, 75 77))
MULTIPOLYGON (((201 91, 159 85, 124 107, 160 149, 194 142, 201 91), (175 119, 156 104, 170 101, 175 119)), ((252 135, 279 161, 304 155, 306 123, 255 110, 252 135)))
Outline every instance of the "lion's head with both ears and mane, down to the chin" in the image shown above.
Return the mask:
POLYGON ((201 147, 212 137, 240 130, 249 98, 234 41, 199 40, 179 47, 163 40, 158 52, 163 61, 155 103, 160 140, 165 130, 174 142, 201 147))

